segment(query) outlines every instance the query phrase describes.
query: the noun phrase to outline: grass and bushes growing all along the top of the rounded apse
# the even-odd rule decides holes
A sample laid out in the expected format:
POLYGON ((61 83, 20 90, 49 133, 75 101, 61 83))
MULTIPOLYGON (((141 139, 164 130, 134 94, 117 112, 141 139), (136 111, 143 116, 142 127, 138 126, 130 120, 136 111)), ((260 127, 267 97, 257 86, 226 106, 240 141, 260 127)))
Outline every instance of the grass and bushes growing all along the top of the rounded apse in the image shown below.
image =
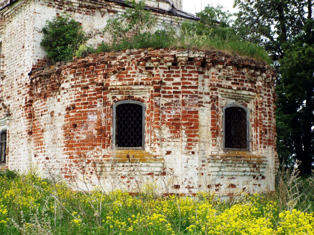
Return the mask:
MULTIPOLYGON (((230 14, 221 7, 207 6, 198 14, 198 22, 185 22, 181 31, 164 25, 156 30, 157 18, 145 9, 145 1, 126 0, 131 8, 126 14, 107 20, 104 34, 110 35, 110 43, 102 42, 97 52, 121 51, 134 48, 193 48, 222 50, 270 63, 267 53, 243 38, 231 26, 230 14)), ((95 49, 87 41, 82 27, 69 15, 58 16, 46 21, 42 29, 44 38, 41 45, 53 62, 69 61, 73 56, 86 56, 95 49)))

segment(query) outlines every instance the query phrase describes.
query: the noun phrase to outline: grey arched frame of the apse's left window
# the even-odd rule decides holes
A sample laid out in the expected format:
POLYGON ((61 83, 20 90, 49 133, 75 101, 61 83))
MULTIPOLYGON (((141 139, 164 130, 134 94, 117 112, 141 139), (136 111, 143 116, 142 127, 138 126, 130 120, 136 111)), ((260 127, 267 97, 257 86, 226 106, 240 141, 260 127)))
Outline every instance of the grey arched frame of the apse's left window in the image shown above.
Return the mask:
POLYGON ((123 100, 113 104, 112 106, 112 145, 114 149, 145 149, 145 104, 135 100, 123 100), (116 147, 116 107, 121 104, 137 104, 142 106, 142 147, 116 147))

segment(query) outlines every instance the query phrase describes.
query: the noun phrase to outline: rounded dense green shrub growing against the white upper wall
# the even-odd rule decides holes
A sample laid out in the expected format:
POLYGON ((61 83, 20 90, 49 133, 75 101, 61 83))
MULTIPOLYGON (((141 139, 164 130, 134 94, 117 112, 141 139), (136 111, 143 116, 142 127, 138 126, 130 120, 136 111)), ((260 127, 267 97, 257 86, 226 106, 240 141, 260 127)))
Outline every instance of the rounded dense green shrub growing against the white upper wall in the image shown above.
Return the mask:
POLYGON ((69 15, 47 20, 42 32, 41 46, 53 62, 72 60, 78 47, 87 41, 82 26, 69 15))

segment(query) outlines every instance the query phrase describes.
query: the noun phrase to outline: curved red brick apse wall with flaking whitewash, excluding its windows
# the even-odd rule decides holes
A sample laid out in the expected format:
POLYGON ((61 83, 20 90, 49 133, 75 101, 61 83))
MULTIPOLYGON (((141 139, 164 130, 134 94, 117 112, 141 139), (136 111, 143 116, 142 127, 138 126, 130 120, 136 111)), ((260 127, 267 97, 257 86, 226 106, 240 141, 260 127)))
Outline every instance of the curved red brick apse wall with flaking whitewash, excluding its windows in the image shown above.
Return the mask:
POLYGON ((185 49, 127 50, 59 66, 30 76, 26 129, 41 169, 108 188, 155 182, 172 193, 232 194, 247 185, 273 190, 275 74, 269 66, 185 49), (145 105, 144 149, 112 147, 113 104, 127 100, 145 105), (248 149, 223 147, 228 105, 248 110, 248 149))

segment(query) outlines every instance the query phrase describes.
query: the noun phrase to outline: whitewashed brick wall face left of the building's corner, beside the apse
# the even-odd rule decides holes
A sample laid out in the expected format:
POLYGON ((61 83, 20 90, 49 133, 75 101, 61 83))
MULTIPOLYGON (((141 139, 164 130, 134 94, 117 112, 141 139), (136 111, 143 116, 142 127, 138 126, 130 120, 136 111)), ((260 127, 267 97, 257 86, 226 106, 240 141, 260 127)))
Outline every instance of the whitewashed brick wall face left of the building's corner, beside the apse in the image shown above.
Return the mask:
POLYGON ((8 167, 24 171, 29 166, 31 145, 27 135, 27 121, 22 118, 26 102, 28 72, 32 68, 34 39, 34 4, 24 2, 14 4, 16 11, 4 14, 3 55, 5 78, 0 81, 3 86, 3 102, 10 104, 14 110, 10 129, 14 135, 9 138, 8 167), (14 92, 12 92, 14 91, 14 92), (12 158, 10 158, 12 156, 12 158))

